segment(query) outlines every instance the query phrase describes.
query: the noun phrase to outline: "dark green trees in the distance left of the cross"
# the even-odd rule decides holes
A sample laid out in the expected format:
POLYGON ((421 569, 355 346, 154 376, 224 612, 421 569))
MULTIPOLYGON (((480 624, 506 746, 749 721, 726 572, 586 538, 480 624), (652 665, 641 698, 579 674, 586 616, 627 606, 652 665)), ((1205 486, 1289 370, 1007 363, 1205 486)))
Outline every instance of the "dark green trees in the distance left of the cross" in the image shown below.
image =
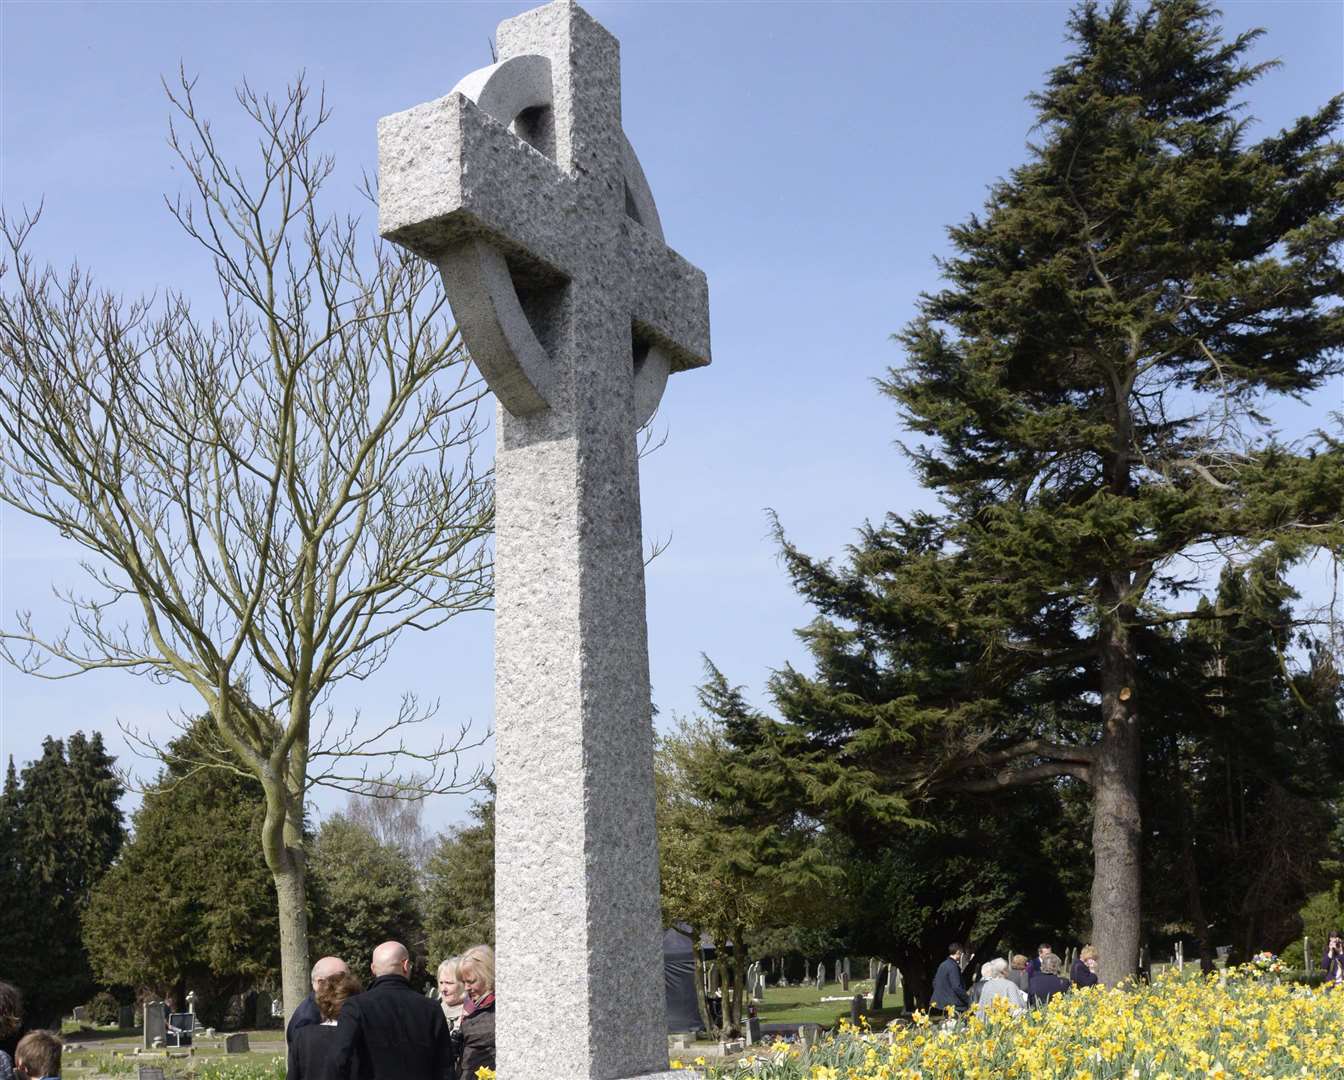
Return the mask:
MULTIPOLYGON (((255 844, 266 805, 243 767, 194 764, 206 721, 168 744, 128 830, 125 789, 99 735, 48 739, 0 799, 0 884, 15 897, 0 935, 0 978, 30 1025, 106 991, 130 1003, 196 994, 220 1026, 231 998, 280 985, 280 919, 255 844)), ((493 793, 469 823, 426 834, 422 803, 348 797, 308 834, 313 956, 367 967, 378 943, 405 942, 429 986, 438 962, 493 943, 493 793)))

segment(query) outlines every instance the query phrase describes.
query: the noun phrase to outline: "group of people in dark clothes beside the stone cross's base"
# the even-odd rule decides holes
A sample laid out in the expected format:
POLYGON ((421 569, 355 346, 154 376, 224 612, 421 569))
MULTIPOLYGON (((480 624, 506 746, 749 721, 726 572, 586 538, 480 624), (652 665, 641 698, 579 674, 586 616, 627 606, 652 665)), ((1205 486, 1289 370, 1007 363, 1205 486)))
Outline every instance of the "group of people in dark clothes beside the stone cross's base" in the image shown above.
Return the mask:
POLYGON ((474 946, 438 966, 438 1001, 410 983, 401 942, 374 950, 368 986, 323 956, 289 1018, 288 1080, 474 1080, 495 1068, 495 952, 474 946))

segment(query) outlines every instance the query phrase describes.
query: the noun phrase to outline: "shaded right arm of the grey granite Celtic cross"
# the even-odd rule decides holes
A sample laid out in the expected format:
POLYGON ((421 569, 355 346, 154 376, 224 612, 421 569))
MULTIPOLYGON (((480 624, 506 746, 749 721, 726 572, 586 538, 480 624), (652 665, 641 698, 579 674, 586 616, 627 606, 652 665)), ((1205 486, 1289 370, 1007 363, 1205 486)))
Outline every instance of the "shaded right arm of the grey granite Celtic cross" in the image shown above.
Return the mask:
POLYGON ((638 222, 626 219, 621 228, 636 330, 668 353, 672 371, 704 367, 710 363, 710 286, 704 271, 638 222))

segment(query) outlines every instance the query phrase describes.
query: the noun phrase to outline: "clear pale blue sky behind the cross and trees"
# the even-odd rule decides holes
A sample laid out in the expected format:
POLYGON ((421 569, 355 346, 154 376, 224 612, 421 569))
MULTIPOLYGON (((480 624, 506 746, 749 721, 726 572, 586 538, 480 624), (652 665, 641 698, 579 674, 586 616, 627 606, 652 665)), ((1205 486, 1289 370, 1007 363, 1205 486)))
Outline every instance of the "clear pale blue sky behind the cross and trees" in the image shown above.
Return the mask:
MULTIPOLYGON (((159 85, 179 63, 224 140, 231 87, 281 91, 304 70, 325 85, 327 146, 349 192, 376 164, 380 116, 445 94, 489 63, 500 19, 472 3, 0 4, 0 196, 46 200, 35 250, 78 259, 106 286, 204 294, 210 267, 163 195, 180 171, 164 144, 159 85)), ((1064 54, 1064 3, 610 3, 586 5, 621 40, 625 128, 668 242, 710 278, 712 367, 664 398, 664 449, 644 462, 646 537, 672 543, 649 570, 649 647, 664 717, 694 709, 706 653, 759 700, 771 668, 801 662, 810 615, 784 579, 766 508, 808 551, 843 553, 864 519, 925 501, 894 447, 872 379, 900 360, 888 336, 937 283, 945 227, 1025 156, 1024 97, 1064 54)), ((1263 26, 1279 58, 1250 95, 1253 137, 1344 89, 1339 0, 1228 3, 1228 32, 1263 26)), ((364 214, 370 228, 372 215, 364 214)), ((1305 429, 1341 404, 1335 384, 1286 415, 1305 429)), ((0 622, 32 609, 58 629, 52 584, 81 583, 75 552, 0 509, 0 622)), ((1324 572, 1309 582, 1322 583, 1324 572)), ((374 684, 337 692, 374 720, 403 689, 442 700, 441 720, 491 723, 489 615, 406 637, 374 684)), ((130 676, 42 682, 0 668, 0 754, 117 720, 157 733, 190 693, 130 676)), ((323 802, 329 809, 331 802, 323 802)), ((438 827, 461 801, 427 810, 438 827)))

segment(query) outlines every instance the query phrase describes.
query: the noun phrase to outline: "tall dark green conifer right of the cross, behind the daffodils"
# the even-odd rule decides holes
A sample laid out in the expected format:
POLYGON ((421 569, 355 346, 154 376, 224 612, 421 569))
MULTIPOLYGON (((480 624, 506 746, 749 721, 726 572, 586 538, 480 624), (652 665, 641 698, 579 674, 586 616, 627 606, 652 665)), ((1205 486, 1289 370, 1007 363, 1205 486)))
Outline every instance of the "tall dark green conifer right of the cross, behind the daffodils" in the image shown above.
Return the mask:
POLYGON ((1085 3, 1032 101, 1039 142, 950 230, 946 287, 882 384, 942 512, 892 517, 835 567, 785 544, 821 611, 817 677, 774 692, 832 806, 898 819, 934 791, 1081 782, 1093 940, 1140 943, 1141 657, 1191 555, 1340 549, 1344 449, 1265 412, 1344 369, 1344 102, 1249 141, 1257 32, 1200 0, 1085 3))

